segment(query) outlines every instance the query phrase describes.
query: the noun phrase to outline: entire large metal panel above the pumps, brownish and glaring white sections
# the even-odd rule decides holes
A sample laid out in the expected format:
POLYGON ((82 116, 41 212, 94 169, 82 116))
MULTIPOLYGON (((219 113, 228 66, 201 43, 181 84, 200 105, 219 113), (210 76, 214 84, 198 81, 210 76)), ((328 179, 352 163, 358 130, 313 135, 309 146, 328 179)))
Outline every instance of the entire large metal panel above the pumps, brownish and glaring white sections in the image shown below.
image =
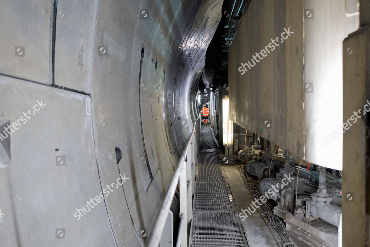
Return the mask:
POLYGON ((229 55, 230 119, 336 170, 342 170, 342 40, 359 26, 359 16, 344 9, 344 0, 252 1, 229 55))

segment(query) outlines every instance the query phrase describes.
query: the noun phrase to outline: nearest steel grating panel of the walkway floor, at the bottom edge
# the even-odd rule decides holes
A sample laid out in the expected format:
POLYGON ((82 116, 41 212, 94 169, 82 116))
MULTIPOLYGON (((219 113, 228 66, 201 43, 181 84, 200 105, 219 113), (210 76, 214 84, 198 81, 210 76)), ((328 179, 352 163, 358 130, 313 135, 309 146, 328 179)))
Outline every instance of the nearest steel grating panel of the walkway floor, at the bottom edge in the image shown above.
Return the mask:
POLYGON ((248 246, 234 211, 198 211, 193 224, 192 247, 248 246))

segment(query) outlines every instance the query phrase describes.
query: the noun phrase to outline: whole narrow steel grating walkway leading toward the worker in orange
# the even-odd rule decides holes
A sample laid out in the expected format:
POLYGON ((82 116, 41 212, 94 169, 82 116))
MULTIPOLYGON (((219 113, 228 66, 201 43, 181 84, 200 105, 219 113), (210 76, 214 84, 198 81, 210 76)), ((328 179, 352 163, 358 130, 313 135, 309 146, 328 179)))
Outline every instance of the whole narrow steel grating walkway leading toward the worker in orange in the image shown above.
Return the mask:
MULTIPOLYGON (((217 148, 210 127, 202 127, 201 149, 217 148)), ((247 247, 218 151, 201 151, 196 168, 191 247, 247 247)))

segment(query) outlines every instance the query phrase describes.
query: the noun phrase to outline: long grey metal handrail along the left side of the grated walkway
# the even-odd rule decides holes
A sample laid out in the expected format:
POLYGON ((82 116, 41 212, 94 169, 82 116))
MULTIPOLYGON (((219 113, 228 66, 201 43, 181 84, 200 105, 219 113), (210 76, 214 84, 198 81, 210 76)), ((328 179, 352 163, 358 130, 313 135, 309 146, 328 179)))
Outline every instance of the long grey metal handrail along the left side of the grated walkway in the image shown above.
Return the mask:
MULTIPOLYGON (((152 228, 153 230, 150 234, 148 243, 146 245, 147 247, 158 247, 159 246, 159 243, 161 241, 161 237, 162 237, 162 234, 163 234, 163 229, 164 229, 165 224, 166 224, 166 219, 167 219, 167 216, 168 216, 168 213, 169 213, 169 209, 171 207, 172 199, 174 197, 177 184, 179 182, 180 174, 181 174, 181 172, 184 172, 184 170, 186 168, 186 162, 187 161, 191 162, 188 159, 187 159, 187 161, 185 161, 185 158, 186 158, 186 155, 188 154, 189 147, 191 146, 191 144, 196 144, 196 143, 194 143, 194 139, 195 139, 194 134, 195 134, 195 131, 196 131, 196 124, 197 124, 197 121, 199 119, 201 119, 200 113, 199 113, 198 119, 196 119, 195 122, 194 122, 193 131, 191 132, 191 134, 189 136, 189 139, 186 142, 185 149, 182 152, 182 155, 178 160, 177 168, 175 170, 174 176, 172 177, 171 183, 169 184, 168 190, 166 192, 165 199, 162 203, 161 209, 159 210, 159 213, 158 213, 157 219, 155 221, 154 227, 152 228)), ((200 129, 200 127, 201 127, 201 123, 199 121, 199 129, 200 129)), ((198 152, 197 148, 194 151, 198 152)), ((185 174, 185 176, 186 176, 186 174, 185 174)), ((194 183, 194 181, 192 181, 192 183, 194 183)), ((181 191, 181 189, 180 189, 180 191, 181 191)), ((180 194, 181 194, 181 192, 180 192, 180 194)), ((191 197, 190 197, 190 201, 191 201, 191 197)), ((180 202, 180 204, 181 204, 181 202, 180 202)), ((184 221, 186 222, 186 219, 184 219, 184 221)), ((179 233, 179 236, 181 237, 180 233, 179 233)), ((187 238, 186 238, 186 241, 187 241, 187 238)))

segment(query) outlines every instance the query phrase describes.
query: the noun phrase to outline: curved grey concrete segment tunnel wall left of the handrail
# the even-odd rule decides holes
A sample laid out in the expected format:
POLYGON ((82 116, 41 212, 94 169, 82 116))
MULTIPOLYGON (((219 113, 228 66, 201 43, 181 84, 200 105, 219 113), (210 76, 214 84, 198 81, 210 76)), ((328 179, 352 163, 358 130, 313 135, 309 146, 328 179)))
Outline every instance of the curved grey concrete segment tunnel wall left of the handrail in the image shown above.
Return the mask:
POLYGON ((0 125, 21 126, 0 145, 1 246, 144 244, 191 132, 181 120, 192 119, 221 7, 4 1, 0 125), (128 179, 115 187, 119 174, 128 179))

